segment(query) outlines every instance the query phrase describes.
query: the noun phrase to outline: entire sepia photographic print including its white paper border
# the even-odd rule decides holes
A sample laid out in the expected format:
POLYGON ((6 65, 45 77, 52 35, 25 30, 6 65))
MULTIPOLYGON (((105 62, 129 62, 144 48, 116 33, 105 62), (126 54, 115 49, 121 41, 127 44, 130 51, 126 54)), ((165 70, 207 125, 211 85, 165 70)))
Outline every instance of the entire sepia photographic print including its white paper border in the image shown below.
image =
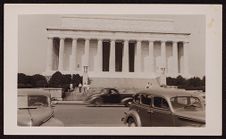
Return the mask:
POLYGON ((220 134, 219 7, 7 6, 7 133, 220 134))

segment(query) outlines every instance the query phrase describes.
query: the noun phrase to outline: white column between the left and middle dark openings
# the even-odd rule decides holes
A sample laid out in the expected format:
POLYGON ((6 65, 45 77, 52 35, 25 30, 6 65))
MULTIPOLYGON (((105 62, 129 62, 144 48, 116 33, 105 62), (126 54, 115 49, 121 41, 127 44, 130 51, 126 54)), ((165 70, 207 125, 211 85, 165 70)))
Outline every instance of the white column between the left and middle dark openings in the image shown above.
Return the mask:
POLYGON ((109 71, 115 72, 115 40, 111 40, 109 71))

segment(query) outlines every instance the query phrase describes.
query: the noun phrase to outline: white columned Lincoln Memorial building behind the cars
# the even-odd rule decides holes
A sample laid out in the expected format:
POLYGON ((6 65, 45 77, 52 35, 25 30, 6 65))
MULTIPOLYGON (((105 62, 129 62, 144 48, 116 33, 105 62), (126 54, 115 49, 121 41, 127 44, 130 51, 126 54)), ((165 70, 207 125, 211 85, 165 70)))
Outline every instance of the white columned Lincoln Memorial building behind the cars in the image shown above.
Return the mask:
POLYGON ((190 33, 175 32, 172 19, 63 16, 47 34, 45 75, 83 75, 86 68, 92 85, 112 87, 189 75, 190 33))

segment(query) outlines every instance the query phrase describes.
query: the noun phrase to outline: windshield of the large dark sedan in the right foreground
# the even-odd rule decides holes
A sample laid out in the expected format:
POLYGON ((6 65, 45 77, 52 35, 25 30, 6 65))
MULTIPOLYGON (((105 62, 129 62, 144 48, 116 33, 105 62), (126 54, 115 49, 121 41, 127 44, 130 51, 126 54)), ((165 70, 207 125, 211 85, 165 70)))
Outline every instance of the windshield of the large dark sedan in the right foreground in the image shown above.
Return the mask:
POLYGON ((202 108, 201 101, 193 96, 176 96, 170 99, 173 109, 194 111, 202 108))

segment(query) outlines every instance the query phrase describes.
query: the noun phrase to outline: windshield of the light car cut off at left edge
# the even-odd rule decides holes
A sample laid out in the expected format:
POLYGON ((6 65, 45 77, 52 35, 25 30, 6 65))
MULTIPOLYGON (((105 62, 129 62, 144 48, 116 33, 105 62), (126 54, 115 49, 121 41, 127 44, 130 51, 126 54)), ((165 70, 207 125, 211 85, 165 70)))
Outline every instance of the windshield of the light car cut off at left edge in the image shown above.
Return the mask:
POLYGON ((48 97, 46 96, 18 96, 18 108, 48 107, 48 97))

